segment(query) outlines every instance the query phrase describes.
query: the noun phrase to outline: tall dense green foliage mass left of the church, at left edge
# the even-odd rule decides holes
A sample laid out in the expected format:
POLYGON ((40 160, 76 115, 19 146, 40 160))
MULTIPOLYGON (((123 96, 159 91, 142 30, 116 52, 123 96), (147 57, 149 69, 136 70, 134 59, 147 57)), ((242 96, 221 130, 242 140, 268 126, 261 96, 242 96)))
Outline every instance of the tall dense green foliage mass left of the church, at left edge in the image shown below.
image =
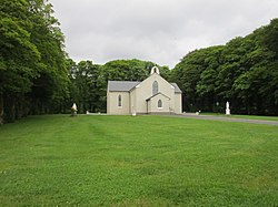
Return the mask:
POLYGON ((44 0, 1 0, 0 123, 60 111, 69 95, 63 35, 44 0))

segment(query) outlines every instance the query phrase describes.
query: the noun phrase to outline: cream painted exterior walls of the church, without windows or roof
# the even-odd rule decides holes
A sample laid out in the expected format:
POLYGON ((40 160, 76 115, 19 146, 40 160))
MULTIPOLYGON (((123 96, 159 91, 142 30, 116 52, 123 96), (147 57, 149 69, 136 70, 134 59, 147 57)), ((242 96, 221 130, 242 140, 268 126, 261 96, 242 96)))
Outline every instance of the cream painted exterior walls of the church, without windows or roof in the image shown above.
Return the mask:
POLYGON ((181 113, 181 94, 175 94, 175 87, 168 83, 163 77, 157 73, 152 73, 148 79, 138 84, 130 92, 107 92, 107 113, 108 114, 132 114, 147 113, 146 100, 151 97, 152 83, 158 82, 158 92, 162 93, 152 97, 148 102, 148 112, 166 113, 173 112, 181 113), (122 106, 118 106, 118 95, 121 94, 122 106), (167 99, 169 97, 169 99, 167 99), (158 108, 158 100, 162 100, 163 107, 158 108), (170 110, 171 108, 171 110, 170 110))

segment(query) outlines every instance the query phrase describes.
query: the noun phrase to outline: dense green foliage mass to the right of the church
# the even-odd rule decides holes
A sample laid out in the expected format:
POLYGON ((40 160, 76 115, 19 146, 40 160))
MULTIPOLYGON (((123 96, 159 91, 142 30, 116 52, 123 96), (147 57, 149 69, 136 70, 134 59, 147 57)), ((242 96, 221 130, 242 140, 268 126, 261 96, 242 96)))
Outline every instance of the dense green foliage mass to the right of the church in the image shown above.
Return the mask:
POLYGON ((278 115, 278 19, 226 45, 196 50, 171 71, 185 111, 278 115))

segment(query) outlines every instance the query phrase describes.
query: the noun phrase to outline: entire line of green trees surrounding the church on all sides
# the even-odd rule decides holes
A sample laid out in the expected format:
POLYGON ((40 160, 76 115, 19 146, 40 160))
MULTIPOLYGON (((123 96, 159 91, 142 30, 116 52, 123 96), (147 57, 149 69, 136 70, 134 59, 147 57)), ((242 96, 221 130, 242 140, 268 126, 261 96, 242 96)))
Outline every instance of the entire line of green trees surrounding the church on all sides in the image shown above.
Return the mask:
MULTIPOLYGON (((142 81, 150 61, 76 63, 47 0, 0 4, 0 123, 33 114, 106 112, 108 80, 142 81)), ((278 114, 278 20, 226 45, 196 50, 161 75, 183 92, 183 111, 215 111, 231 102, 234 113, 278 114), (217 104, 218 103, 218 104, 217 104)))

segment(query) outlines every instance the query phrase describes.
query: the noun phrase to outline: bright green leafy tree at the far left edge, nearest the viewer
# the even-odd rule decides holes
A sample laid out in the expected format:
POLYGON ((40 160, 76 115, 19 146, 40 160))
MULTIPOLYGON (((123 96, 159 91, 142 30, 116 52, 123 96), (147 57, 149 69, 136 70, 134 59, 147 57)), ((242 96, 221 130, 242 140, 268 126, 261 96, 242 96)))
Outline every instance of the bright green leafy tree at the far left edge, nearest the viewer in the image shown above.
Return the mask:
POLYGON ((0 4, 0 123, 16 118, 16 102, 31 90, 39 74, 40 53, 31 42, 29 4, 2 0, 0 4))

